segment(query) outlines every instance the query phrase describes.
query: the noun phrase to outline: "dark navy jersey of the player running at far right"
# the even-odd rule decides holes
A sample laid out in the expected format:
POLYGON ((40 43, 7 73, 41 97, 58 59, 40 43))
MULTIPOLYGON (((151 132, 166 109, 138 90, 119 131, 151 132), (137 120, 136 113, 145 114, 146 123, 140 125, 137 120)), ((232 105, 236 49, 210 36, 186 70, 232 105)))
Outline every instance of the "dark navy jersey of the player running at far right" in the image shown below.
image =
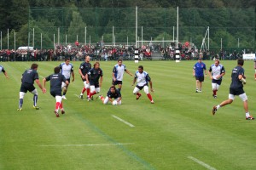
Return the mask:
POLYGON ((232 82, 230 84, 230 88, 242 88, 242 82, 239 80, 238 76, 244 75, 244 69, 237 65, 233 70, 231 74, 232 82))

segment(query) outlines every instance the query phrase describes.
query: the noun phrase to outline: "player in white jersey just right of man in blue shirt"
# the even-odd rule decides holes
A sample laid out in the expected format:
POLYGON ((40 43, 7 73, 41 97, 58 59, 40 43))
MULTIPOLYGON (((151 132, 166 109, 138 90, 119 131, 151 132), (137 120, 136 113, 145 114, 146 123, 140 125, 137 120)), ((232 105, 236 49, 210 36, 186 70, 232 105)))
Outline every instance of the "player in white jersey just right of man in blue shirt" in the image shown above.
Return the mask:
POLYGON ((210 66, 209 76, 212 80, 212 96, 217 98, 217 91, 222 82, 222 77, 225 75, 224 66, 219 64, 219 60, 216 59, 214 64, 210 66))

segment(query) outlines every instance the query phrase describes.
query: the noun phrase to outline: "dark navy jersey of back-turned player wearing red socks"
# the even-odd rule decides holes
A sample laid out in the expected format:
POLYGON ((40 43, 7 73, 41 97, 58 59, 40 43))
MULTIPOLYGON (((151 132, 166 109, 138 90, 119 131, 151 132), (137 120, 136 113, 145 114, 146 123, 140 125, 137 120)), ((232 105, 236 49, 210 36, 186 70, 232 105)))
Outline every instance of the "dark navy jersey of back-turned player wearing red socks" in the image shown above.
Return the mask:
POLYGON ((61 91, 62 82, 66 82, 66 78, 61 75, 61 73, 49 75, 49 77, 45 77, 45 79, 47 82, 50 81, 51 92, 61 91))

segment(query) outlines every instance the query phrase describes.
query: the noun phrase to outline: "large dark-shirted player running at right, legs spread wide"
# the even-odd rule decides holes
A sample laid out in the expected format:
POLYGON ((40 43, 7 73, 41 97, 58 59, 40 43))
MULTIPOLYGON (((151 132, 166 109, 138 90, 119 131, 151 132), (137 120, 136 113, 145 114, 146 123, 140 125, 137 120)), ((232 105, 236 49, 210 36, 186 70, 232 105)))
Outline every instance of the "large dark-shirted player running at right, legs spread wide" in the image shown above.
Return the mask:
POLYGON ((237 59, 237 66, 232 70, 231 74, 232 82, 230 84, 229 99, 224 100, 221 104, 217 106, 213 106, 212 115, 215 115, 216 111, 218 111, 220 107, 231 104, 234 101, 235 96, 238 95, 240 99, 243 101, 243 108, 246 111, 246 120, 254 120, 254 117, 250 116, 249 114, 247 94, 245 94, 243 90, 243 84, 246 84, 244 69, 242 68, 243 63, 243 59, 237 59))

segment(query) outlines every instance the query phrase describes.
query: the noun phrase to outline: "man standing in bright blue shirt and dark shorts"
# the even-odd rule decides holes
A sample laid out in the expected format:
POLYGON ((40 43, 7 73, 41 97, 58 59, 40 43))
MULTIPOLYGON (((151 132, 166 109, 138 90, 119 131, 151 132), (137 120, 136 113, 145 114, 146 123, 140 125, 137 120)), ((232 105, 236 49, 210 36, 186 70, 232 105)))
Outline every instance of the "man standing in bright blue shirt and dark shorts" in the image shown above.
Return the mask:
POLYGON ((198 59, 198 62, 195 63, 193 68, 193 76, 195 77, 195 93, 201 92, 202 82, 205 80, 205 75, 207 76, 207 65, 201 62, 201 57, 198 59))

